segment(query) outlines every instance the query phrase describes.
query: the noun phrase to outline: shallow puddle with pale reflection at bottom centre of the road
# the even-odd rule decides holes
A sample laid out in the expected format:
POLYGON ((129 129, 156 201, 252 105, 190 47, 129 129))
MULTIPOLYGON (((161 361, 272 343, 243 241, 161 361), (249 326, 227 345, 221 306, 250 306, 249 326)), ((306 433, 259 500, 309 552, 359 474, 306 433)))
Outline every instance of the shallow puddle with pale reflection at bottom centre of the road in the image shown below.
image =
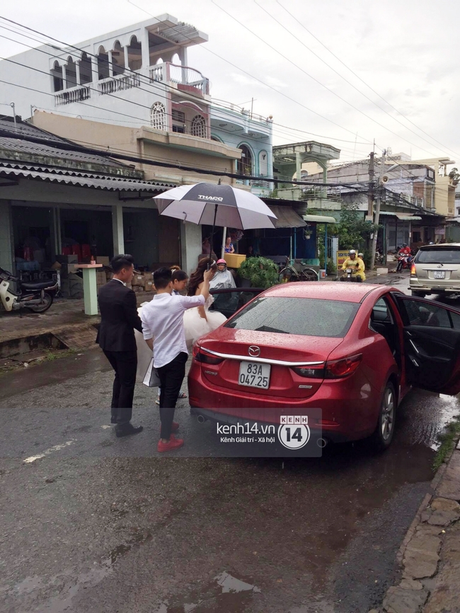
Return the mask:
POLYGON ((161 602, 154 613, 244 613, 260 592, 257 585, 223 572, 202 590, 180 599, 185 602, 178 598, 161 602))

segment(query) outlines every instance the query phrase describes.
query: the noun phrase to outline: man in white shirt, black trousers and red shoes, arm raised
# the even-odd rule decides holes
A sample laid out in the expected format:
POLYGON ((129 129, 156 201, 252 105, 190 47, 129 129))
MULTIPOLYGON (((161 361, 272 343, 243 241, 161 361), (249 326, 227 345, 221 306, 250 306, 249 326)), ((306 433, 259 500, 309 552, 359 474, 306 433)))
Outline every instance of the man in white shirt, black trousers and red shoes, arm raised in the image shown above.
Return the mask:
POLYGON ((208 270, 197 296, 171 295, 172 273, 169 268, 154 272, 156 295, 141 312, 142 333, 149 348, 154 352, 154 367, 160 379, 161 434, 158 451, 166 452, 183 446, 183 439, 172 434, 179 428, 173 421, 176 402, 185 377, 188 350, 185 343, 183 316, 187 309, 202 307, 209 296, 209 280, 214 275, 208 270))

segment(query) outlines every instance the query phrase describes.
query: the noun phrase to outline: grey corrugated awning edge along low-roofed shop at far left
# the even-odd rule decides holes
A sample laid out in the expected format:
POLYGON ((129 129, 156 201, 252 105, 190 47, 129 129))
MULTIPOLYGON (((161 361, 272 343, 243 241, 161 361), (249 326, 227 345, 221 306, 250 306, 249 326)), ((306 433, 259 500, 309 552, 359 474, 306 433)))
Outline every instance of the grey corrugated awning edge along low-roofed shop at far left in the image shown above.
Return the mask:
POLYGON ((128 192, 158 192, 161 187, 173 187, 168 183, 149 183, 141 179, 130 179, 110 176, 88 176, 88 173, 79 175, 73 173, 64 175, 62 171, 35 171, 31 168, 8 168, 0 164, 0 176, 2 177, 18 177, 33 179, 35 181, 46 181, 47 183, 64 183, 64 185, 76 185, 81 188, 93 188, 98 190, 110 191, 128 191, 128 192))

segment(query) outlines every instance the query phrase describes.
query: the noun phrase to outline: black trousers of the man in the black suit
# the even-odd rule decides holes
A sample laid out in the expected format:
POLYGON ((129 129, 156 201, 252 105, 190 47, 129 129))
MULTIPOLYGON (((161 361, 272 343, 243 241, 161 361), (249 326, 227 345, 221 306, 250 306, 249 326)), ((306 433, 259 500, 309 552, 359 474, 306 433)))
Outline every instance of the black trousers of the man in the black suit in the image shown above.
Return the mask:
POLYGON ((123 426, 132 417, 132 399, 136 386, 137 351, 104 351, 115 370, 112 392, 112 420, 123 426))

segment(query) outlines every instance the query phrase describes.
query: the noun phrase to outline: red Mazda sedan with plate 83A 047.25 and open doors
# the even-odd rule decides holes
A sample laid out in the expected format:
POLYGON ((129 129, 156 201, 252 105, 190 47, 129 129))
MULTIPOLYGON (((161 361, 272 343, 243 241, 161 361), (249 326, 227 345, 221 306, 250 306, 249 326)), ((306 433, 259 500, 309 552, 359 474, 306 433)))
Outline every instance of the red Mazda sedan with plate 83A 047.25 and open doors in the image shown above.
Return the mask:
POLYGON ((372 436, 381 449, 411 386, 459 393, 460 310, 387 286, 333 282, 261 293, 200 338, 188 376, 192 413, 204 418, 279 424, 320 408, 312 434, 372 436))

